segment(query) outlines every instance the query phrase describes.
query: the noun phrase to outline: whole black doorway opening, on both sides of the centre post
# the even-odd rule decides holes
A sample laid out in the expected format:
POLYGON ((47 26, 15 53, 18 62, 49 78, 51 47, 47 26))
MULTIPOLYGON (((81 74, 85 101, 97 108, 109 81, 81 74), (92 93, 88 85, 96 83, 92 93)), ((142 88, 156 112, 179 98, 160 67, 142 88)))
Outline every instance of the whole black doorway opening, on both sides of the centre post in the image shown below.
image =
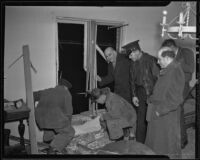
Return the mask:
MULTIPOLYGON (((104 51, 106 47, 117 47, 117 29, 111 25, 97 25, 96 44, 104 51)), ((65 78, 72 84, 73 114, 89 110, 89 100, 84 94, 86 89, 86 71, 83 68, 85 25, 78 23, 58 22, 58 78, 65 78)), ((88 42, 87 42, 88 43, 88 42)), ((98 52, 98 51, 97 51, 98 52)), ((97 54, 97 73, 107 74, 107 62, 97 54)), ((107 85, 113 91, 113 84, 107 85)), ((101 108, 101 107, 100 107, 101 108)))

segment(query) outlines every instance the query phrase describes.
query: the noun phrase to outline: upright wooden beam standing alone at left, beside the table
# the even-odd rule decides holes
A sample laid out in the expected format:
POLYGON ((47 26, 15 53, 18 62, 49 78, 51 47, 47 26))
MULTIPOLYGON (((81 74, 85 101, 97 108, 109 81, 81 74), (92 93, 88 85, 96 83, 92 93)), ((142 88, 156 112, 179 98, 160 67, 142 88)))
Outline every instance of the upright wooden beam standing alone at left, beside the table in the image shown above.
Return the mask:
POLYGON ((29 46, 23 46, 23 60, 24 60, 24 77, 25 77, 25 87, 26 87, 26 103, 30 108, 29 115, 29 139, 31 142, 31 154, 38 154, 38 146, 36 141, 36 123, 35 123, 35 109, 33 101, 33 91, 32 91, 32 80, 31 80, 31 62, 29 46))

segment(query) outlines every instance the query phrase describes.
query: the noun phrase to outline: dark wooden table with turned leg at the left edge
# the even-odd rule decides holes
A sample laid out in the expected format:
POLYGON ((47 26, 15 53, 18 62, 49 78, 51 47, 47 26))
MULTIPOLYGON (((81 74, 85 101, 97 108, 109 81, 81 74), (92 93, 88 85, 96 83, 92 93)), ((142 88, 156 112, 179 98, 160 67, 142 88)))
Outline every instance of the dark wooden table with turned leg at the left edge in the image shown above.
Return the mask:
POLYGON ((23 123, 23 120, 27 120, 27 124, 28 124, 29 112, 30 112, 30 109, 25 105, 19 109, 4 110, 4 126, 5 126, 5 123, 7 122, 19 121, 18 132, 20 135, 20 145, 24 149, 25 149, 25 143, 24 143, 25 125, 23 123))

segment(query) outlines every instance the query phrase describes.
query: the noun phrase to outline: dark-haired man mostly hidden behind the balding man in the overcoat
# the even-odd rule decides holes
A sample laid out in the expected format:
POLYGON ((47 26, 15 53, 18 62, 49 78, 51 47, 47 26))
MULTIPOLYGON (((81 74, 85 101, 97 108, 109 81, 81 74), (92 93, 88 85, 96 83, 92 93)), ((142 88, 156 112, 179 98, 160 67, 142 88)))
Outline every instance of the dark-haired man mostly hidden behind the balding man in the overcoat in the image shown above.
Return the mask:
MULTIPOLYGON (((176 53, 175 60, 181 63, 181 67, 185 74, 185 87, 183 90, 183 98, 186 98, 190 86, 189 82, 192 79, 192 74, 194 72, 194 53, 189 48, 182 48, 176 45, 173 39, 167 39, 162 43, 162 47, 170 47, 176 53)), ((184 108, 181 107, 181 147, 184 148, 187 143, 187 132, 184 121, 184 108)))

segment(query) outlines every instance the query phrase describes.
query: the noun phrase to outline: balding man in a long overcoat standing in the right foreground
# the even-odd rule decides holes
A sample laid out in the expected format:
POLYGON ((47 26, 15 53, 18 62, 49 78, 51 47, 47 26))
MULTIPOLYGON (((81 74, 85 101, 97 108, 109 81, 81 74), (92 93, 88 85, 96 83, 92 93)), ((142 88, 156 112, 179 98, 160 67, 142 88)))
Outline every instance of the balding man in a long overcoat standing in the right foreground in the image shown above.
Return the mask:
POLYGON ((180 104, 183 101, 184 72, 169 47, 158 52, 162 70, 148 100, 145 144, 156 154, 181 158, 180 104))

